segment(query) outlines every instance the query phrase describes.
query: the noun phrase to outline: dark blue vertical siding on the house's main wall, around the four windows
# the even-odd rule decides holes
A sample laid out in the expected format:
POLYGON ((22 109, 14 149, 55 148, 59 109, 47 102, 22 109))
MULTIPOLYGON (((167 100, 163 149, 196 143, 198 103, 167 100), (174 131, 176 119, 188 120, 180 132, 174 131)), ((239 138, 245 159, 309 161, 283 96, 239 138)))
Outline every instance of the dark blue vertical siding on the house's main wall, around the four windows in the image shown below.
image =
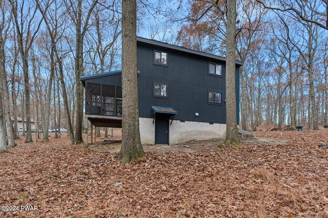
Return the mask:
MULTIPOLYGON (((208 123, 226 123, 226 67, 224 62, 138 43, 139 116, 152 117, 151 106, 172 107, 174 119, 208 123), (167 66, 154 63, 154 51, 167 53, 167 66), (222 77, 208 75, 209 62, 222 65, 222 77), (154 82, 167 84, 168 98, 154 98, 154 82), (222 104, 208 103, 208 91, 222 92, 222 104), (199 113, 196 117, 195 113, 199 113)), ((236 83, 239 69, 236 66, 236 83)), ((237 103, 239 85, 236 86, 237 103)))

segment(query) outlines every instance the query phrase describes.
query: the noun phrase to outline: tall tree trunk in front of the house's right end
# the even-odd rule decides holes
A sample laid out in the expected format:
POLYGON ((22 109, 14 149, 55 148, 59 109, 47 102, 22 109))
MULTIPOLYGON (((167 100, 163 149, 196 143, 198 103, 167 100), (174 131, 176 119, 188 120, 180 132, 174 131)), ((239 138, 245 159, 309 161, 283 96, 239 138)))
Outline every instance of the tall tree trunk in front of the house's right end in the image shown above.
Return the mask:
POLYGON ((239 144, 236 103, 236 0, 227 1, 226 144, 239 144))

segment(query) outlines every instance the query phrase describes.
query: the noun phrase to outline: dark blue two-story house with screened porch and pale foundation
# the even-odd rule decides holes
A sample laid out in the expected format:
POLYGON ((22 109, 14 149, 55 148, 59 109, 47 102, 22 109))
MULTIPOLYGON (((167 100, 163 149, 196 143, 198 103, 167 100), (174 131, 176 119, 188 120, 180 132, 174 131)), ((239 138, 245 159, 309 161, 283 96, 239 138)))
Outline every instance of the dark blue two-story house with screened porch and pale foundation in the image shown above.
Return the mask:
MULTIPOLYGON (((236 61, 237 117, 241 65, 236 61)), ((137 37, 137 66, 142 143, 225 137, 225 58, 137 37)), ((81 81, 91 124, 121 127, 121 71, 83 76, 81 81)))

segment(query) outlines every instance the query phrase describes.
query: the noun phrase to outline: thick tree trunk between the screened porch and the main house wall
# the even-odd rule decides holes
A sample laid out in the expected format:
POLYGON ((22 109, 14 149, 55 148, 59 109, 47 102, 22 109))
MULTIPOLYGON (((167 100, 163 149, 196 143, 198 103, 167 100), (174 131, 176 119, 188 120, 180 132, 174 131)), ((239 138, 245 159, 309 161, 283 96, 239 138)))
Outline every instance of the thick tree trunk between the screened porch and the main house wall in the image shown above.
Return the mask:
POLYGON ((144 157, 139 130, 136 0, 122 1, 122 164, 144 157))

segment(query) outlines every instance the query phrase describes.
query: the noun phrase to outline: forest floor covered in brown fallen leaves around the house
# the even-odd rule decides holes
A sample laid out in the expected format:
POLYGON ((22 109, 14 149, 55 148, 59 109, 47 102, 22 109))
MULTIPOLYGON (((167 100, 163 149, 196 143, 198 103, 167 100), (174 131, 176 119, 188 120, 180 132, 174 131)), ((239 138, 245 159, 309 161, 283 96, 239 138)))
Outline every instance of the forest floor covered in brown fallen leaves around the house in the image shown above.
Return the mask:
POLYGON ((267 129, 238 147, 145 145, 125 166, 119 143, 22 137, 0 154, 0 217, 328 217, 328 129, 267 129))

